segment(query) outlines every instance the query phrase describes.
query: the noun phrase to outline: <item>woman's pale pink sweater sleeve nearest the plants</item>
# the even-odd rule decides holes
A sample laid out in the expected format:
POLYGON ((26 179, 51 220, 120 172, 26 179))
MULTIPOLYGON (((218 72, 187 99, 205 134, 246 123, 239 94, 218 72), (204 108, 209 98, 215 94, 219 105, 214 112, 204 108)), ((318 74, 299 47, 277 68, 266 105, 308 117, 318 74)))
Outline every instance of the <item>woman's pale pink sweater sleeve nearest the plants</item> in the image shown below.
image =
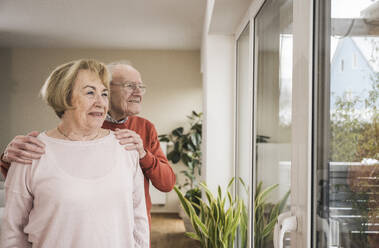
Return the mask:
POLYGON ((134 209, 134 230, 133 236, 136 248, 149 248, 149 222, 146 214, 146 202, 144 191, 143 174, 136 156, 137 166, 134 171, 133 185, 133 209, 134 209))

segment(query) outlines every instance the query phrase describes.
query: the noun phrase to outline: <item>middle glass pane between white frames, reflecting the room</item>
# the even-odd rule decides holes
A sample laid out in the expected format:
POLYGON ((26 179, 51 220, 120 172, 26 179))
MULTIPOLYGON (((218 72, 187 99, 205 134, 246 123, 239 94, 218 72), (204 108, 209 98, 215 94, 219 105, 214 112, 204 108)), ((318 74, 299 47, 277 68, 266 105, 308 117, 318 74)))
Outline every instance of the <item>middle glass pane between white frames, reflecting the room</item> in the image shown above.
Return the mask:
MULTIPOLYGON (((255 18, 256 51, 256 178, 257 194, 274 186, 255 201, 255 247, 272 247, 272 230, 264 237, 271 214, 280 201, 289 209, 291 174, 292 104, 292 1, 268 0, 255 18)), ((275 221, 275 220, 274 220, 275 221)), ((287 245, 289 240, 287 239, 287 245)))

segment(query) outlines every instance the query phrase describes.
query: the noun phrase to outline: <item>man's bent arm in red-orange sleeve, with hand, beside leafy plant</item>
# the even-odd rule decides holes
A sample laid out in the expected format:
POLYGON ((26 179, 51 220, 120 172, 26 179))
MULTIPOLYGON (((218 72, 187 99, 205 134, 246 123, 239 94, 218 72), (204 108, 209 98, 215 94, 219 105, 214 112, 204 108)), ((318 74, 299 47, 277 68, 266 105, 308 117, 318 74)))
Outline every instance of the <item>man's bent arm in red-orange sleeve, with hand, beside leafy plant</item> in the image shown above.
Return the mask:
POLYGON ((149 133, 145 134, 148 137, 145 137, 145 144, 142 144, 142 139, 137 133, 127 129, 117 130, 116 137, 120 144, 125 145, 125 149, 137 149, 143 174, 151 180, 154 187, 162 192, 170 192, 176 182, 175 173, 160 147, 154 126, 152 125, 148 131, 149 133))

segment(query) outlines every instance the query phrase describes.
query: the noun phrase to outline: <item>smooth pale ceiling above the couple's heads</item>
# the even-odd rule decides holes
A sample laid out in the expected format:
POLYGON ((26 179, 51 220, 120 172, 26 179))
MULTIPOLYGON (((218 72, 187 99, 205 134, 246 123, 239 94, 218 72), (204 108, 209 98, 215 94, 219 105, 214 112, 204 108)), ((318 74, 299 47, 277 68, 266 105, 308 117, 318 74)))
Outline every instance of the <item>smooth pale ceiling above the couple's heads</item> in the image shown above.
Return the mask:
POLYGON ((200 49, 206 0, 1 0, 0 47, 200 49))

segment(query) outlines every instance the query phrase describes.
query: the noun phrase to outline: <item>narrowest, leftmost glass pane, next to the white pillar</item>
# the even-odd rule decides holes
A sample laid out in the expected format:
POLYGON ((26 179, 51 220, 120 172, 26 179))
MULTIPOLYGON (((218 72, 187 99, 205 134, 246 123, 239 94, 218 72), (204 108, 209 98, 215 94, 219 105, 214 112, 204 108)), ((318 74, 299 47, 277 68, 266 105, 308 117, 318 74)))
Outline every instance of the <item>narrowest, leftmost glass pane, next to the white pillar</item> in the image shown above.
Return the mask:
MULTIPOLYGON (((250 147, 252 131, 252 107, 250 94, 252 82, 249 81, 249 30, 248 24, 237 40, 237 140, 236 140, 236 175, 241 182, 237 182, 237 195, 244 200, 246 211, 249 206, 250 188, 250 147)), ((246 213, 247 214, 247 213, 246 213)), ((247 216, 247 215, 246 215, 247 216)), ((247 247, 247 230, 242 228, 238 235, 238 247, 247 247)))

